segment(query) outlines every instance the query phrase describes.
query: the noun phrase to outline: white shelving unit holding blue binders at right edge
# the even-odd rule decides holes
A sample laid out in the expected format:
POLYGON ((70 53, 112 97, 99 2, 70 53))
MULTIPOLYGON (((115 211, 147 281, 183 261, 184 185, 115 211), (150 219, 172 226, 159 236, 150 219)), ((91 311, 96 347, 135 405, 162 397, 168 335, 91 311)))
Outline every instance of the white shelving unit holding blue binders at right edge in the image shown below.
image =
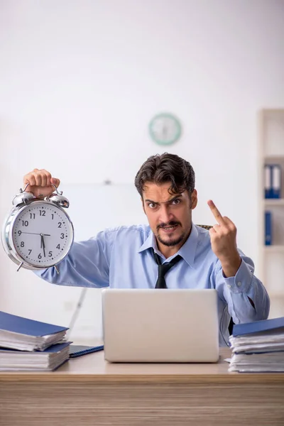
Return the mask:
POLYGON ((259 231, 258 273, 271 298, 269 317, 284 316, 284 109, 263 109, 259 134, 259 231), (264 165, 279 164, 282 170, 279 199, 266 199, 264 165), (265 212, 272 215, 272 244, 265 245, 265 212))

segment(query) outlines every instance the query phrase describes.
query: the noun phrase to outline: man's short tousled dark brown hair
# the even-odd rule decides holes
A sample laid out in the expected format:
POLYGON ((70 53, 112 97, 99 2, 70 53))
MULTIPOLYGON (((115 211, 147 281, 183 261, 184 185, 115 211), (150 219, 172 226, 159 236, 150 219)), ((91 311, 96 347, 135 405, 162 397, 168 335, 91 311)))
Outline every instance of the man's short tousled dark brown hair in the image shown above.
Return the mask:
POLYGON ((141 197, 146 182, 161 185, 170 182, 169 192, 179 194, 185 190, 189 195, 195 189, 195 171, 192 165, 178 155, 163 153, 151 155, 141 165, 135 178, 135 186, 141 197))

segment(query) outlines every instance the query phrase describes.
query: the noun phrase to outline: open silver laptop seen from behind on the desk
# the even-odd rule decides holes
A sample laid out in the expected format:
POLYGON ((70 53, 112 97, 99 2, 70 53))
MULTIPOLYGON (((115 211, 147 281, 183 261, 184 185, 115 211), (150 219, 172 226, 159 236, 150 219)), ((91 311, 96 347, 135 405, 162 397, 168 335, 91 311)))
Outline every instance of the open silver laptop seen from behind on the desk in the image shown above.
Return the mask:
POLYGON ((217 362, 217 290, 102 290, 109 362, 217 362))

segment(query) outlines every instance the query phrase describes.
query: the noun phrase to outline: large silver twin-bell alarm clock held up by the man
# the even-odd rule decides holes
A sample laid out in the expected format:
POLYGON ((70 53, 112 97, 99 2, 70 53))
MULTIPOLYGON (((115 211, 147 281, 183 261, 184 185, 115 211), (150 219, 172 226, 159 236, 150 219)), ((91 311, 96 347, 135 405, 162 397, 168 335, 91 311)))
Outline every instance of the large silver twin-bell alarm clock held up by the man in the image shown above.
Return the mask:
MULTIPOLYGON (((55 187, 55 185, 53 185, 55 187)), ((26 269, 55 266, 70 251, 74 229, 65 212, 69 201, 56 192, 38 200, 26 188, 13 198, 13 208, 2 228, 2 244, 9 258, 26 269)))

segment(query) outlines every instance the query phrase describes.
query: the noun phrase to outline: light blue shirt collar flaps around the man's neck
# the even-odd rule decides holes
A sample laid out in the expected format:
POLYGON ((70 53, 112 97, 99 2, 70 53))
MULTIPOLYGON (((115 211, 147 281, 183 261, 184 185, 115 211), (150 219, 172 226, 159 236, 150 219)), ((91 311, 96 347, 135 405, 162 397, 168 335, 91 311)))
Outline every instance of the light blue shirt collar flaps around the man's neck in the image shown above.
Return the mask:
MULTIPOLYGON (((185 241, 185 244, 183 244, 183 246, 180 248, 178 253, 175 253, 174 256, 179 254, 188 263, 189 266, 193 267, 193 264, 195 262, 195 253, 197 249, 197 244, 198 244, 198 231, 195 224, 192 224, 190 236, 187 238, 187 241, 185 241)), ((148 238, 146 239, 146 241, 143 242, 142 246, 138 250, 138 253, 141 253, 142 251, 151 249, 151 248, 157 251, 157 246, 155 244, 155 236, 152 231, 150 231, 148 238)))

